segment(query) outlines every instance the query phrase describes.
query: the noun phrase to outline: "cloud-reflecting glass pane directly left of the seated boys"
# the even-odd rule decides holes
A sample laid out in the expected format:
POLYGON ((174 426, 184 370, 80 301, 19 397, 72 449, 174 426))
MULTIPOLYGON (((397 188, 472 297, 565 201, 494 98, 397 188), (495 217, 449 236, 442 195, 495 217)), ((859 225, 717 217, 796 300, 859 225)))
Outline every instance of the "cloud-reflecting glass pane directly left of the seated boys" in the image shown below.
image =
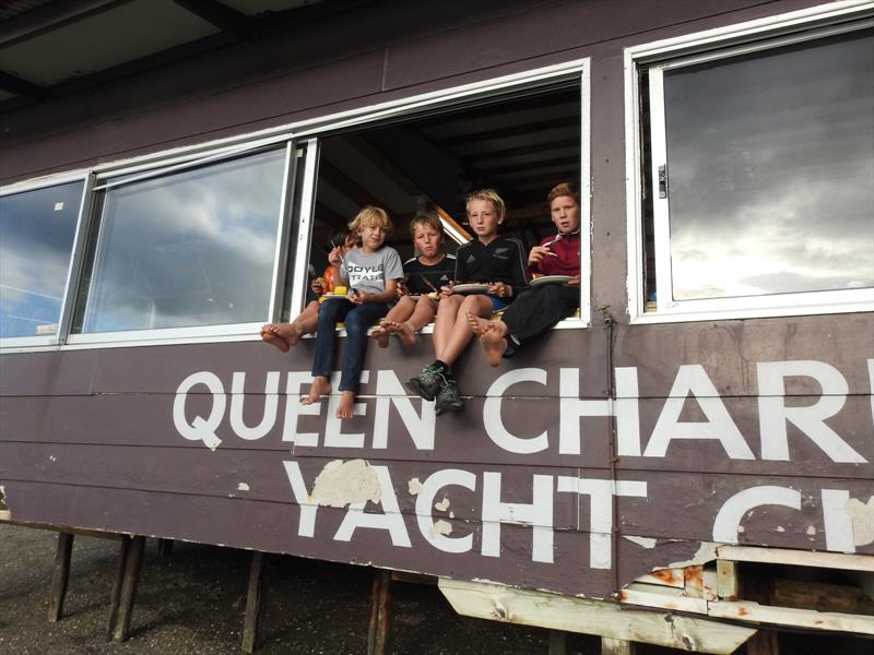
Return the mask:
POLYGON ((261 321, 285 150, 106 191, 82 332, 261 321))

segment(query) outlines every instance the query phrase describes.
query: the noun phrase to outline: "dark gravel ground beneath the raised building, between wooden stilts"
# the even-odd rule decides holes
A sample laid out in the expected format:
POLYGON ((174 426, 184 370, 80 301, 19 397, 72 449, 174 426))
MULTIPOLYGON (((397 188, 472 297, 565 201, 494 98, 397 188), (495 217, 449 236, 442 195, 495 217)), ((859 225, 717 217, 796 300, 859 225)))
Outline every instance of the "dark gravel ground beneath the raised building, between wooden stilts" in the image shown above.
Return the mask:
MULTIPOLYGON (((0 524, 0 654, 220 655, 241 653, 250 553, 176 541, 158 556, 149 539, 131 636, 106 642, 118 541, 76 536, 61 621, 46 620, 56 533, 0 524)), ((271 556, 259 654, 361 654, 367 646, 373 572, 364 567, 271 556)), ((392 587, 393 653, 546 655, 539 628, 460 617, 437 587, 392 587)), ((781 634, 782 655, 870 653, 872 642, 781 634)), ((568 655, 598 655, 600 640, 567 635, 568 655)), ((744 652, 742 647, 741 653, 744 652)), ((638 655, 681 653, 639 646, 638 655)))

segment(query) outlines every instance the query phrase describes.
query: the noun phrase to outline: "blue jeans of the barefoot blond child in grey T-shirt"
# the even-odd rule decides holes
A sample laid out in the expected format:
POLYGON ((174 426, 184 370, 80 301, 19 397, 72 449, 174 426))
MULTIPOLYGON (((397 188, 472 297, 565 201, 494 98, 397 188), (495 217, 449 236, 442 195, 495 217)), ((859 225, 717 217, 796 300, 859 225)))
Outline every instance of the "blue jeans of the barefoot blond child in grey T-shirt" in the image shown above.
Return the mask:
POLYGON ((358 391, 358 382, 367 352, 367 329, 389 312, 383 302, 353 305, 347 300, 328 300, 319 308, 319 326, 316 329, 316 353, 312 357, 312 377, 331 378, 336 348, 336 323, 346 324, 346 348, 340 391, 358 391))

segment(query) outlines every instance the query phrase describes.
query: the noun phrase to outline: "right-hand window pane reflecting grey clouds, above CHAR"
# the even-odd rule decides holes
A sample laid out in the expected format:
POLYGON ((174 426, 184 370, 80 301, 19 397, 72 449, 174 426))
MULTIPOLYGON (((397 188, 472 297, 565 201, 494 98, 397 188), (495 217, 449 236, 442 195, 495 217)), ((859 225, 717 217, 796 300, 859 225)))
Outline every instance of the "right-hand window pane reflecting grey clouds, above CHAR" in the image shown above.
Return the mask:
POLYGON ((674 299, 874 286, 874 35, 666 71, 674 299))

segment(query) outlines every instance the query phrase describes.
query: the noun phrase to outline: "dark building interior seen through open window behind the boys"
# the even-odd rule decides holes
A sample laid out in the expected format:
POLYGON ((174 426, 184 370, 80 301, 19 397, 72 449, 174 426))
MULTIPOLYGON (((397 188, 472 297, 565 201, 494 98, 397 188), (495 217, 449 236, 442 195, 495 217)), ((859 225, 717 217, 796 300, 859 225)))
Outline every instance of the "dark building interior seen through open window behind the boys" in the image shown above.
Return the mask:
POLYGON ((414 255, 410 221, 425 210, 440 214, 445 250, 454 253, 471 238, 465 196, 485 187, 507 202, 501 234, 529 248, 540 242, 555 231, 547 192, 579 183, 580 111, 579 84, 565 83, 320 139, 310 275, 324 270, 331 235, 365 204, 389 212, 395 229, 387 245, 403 260, 414 255))

